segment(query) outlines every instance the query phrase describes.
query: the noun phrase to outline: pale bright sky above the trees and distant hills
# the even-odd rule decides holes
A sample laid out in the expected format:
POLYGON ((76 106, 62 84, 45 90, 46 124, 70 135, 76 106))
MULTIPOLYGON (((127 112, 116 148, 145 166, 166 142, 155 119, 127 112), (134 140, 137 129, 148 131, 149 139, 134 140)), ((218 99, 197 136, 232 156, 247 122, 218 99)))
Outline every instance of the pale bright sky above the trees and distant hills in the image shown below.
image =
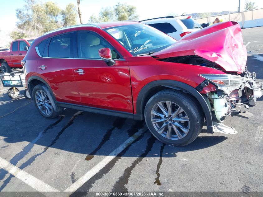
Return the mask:
MULTIPOLYGON (((47 2, 50 0, 41 1, 47 2)), ((61 8, 65 8, 68 3, 74 3, 77 6, 77 0, 52 1, 56 2, 61 8)), ((263 8, 262 0, 251 1, 256 2, 258 8, 263 8)), ((236 11, 238 7, 238 0, 81 0, 83 22, 87 23, 92 14, 98 15, 101 7, 113 7, 117 2, 136 6, 140 20, 167 16, 169 13, 236 11)), ((16 27, 17 18, 15 10, 16 8, 23 7, 24 3, 23 0, 0 0, 0 7, 2 8, 0 12, 0 29, 2 31, 12 30, 16 27)), ((244 10, 244 7, 245 0, 241 0, 241 11, 244 10)))

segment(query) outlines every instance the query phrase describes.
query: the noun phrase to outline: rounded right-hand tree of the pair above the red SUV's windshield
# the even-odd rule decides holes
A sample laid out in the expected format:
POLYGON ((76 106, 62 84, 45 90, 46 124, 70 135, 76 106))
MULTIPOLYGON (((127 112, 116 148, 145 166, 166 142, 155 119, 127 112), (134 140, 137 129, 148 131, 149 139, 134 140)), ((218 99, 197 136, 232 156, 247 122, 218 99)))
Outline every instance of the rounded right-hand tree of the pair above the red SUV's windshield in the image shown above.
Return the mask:
POLYGON ((118 2, 114 7, 114 12, 117 21, 138 20, 139 18, 139 15, 136 14, 136 7, 126 3, 118 2))

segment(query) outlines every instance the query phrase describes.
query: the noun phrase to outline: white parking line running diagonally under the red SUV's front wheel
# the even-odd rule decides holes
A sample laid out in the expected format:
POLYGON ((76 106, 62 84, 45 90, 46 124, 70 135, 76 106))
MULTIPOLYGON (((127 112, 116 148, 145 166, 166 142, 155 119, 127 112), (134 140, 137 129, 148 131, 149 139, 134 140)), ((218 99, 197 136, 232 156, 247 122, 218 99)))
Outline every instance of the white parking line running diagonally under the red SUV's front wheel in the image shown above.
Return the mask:
POLYGON ((113 152, 111 152, 107 157, 105 157, 101 162, 99 162, 96 166, 94 166, 90 171, 80 177, 75 183, 66 189, 66 192, 74 192, 78 188, 80 188, 85 182, 87 182, 92 176, 98 173, 103 167, 105 167, 112 159, 114 159, 121 151, 123 151, 127 146, 134 142, 137 138, 139 138, 143 134, 144 130, 140 129, 133 136, 128 138, 123 144, 121 144, 118 148, 116 148, 113 152))

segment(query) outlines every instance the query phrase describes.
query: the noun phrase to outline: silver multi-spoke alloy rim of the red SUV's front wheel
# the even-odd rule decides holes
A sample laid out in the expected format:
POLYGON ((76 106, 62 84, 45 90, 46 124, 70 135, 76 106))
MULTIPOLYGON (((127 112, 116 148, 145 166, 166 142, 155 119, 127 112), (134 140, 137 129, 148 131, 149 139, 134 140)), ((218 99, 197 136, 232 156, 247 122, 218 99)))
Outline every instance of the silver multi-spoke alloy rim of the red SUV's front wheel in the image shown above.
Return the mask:
POLYGON ((153 127, 163 137, 171 140, 184 138, 190 129, 185 110, 171 101, 161 101, 151 111, 153 127))

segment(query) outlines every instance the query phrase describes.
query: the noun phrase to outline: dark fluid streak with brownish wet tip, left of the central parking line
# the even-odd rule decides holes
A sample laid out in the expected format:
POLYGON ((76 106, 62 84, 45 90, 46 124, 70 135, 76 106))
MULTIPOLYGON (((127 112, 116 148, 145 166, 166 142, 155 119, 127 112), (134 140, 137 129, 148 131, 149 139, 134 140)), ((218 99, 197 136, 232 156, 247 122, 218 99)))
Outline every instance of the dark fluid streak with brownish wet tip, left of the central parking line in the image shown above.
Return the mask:
POLYGON ((94 155, 96 154, 96 152, 98 150, 100 150, 100 148, 103 146, 103 144, 105 144, 109 139, 110 139, 110 136, 112 134, 112 131, 115 129, 115 128, 118 128, 118 129, 121 129, 122 126, 124 125, 124 122, 125 122, 126 119, 124 118, 117 118, 113 125, 112 125, 112 128, 109 129, 103 136, 100 144, 97 146, 97 148, 95 148, 90 154, 87 155, 87 157, 85 158, 85 160, 89 161, 91 160, 94 155))

